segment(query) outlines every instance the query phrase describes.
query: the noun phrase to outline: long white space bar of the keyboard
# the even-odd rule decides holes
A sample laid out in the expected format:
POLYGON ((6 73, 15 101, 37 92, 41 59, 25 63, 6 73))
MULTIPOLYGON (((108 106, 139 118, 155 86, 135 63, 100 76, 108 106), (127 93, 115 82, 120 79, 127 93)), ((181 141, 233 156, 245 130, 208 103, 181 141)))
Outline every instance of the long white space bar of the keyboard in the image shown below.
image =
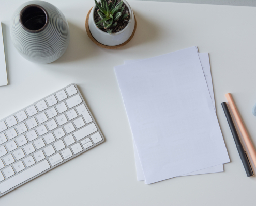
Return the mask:
POLYGON ((14 176, 13 178, 9 178, 5 182, 0 184, 0 193, 4 193, 8 190, 10 190, 12 187, 17 186, 21 184, 22 182, 25 182, 26 180, 29 180, 30 178, 33 178, 34 176, 42 173, 43 171, 50 168, 50 165, 47 160, 44 160, 43 162, 23 171, 19 175, 14 176))

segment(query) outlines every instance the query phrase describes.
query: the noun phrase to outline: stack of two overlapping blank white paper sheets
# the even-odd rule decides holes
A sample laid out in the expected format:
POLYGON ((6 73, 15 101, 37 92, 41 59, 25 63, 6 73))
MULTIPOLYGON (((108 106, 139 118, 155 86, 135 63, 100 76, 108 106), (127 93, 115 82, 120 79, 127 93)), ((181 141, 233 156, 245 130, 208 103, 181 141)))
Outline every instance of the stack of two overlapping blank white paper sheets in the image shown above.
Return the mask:
POLYGON ((138 180, 223 171, 230 162, 215 113, 208 54, 197 47, 116 66, 138 180))

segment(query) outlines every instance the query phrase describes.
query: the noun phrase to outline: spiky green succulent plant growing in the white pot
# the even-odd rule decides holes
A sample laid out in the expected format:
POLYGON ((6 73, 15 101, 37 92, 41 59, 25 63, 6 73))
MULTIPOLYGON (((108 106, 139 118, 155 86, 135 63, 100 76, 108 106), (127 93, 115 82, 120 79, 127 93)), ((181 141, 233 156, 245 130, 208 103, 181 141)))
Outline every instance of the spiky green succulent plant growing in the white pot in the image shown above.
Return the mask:
MULTIPOLYGON (((124 11, 124 7, 122 7, 123 1, 116 4, 115 0, 113 4, 110 2, 109 5, 106 0, 100 0, 100 4, 96 0, 94 1, 97 7, 97 12, 101 18, 101 20, 96 23, 98 28, 107 29, 115 27, 117 21, 123 20, 129 15, 128 13, 122 15, 124 11), (103 26, 100 25, 101 23, 103 23, 103 26)), ((113 29, 107 30, 107 32, 111 34, 112 30, 113 29)))

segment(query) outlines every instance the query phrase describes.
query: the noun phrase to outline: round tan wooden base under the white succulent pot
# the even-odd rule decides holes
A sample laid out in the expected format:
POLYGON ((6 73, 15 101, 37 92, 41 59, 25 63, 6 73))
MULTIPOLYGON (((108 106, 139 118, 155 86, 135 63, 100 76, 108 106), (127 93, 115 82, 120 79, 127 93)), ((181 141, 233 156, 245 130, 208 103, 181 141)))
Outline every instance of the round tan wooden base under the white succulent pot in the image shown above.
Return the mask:
POLYGON ((93 37, 93 35, 92 35, 92 33, 89 29, 89 15, 90 15, 92 9, 93 9, 93 7, 87 13, 86 20, 85 20, 85 29, 86 29, 86 33, 87 33, 88 37, 93 41, 93 43, 95 43, 96 45, 98 45, 102 48, 116 49, 116 48, 121 48, 122 46, 126 45, 127 43, 129 43, 131 41, 131 39, 134 36, 134 33, 136 31, 136 27, 137 27, 137 21, 136 21, 135 15, 134 15, 134 20, 135 20, 134 30, 133 30, 130 38, 126 42, 124 42, 123 44, 119 44, 119 45, 116 45, 116 46, 107 46, 107 45, 99 43, 96 39, 94 39, 94 37, 93 37))

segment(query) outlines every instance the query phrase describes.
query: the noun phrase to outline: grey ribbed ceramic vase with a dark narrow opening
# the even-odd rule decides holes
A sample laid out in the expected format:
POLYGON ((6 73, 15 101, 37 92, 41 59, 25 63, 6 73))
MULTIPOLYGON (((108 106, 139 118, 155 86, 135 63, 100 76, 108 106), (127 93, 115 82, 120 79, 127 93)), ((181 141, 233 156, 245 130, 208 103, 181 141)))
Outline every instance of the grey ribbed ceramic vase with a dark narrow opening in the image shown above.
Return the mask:
POLYGON ((47 64, 61 57, 68 47, 68 22, 61 11, 48 2, 29 1, 13 14, 11 40, 27 60, 47 64))

